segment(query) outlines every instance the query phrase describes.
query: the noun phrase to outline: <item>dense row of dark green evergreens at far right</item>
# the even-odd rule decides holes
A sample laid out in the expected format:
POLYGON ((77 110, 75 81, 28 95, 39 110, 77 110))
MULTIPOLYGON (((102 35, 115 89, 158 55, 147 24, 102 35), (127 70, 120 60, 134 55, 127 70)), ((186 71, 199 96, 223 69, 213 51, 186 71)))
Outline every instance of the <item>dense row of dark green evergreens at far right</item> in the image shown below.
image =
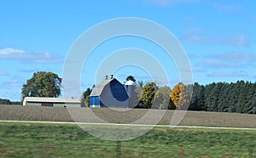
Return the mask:
POLYGON ((195 83, 189 110, 256 114, 256 82, 195 83))

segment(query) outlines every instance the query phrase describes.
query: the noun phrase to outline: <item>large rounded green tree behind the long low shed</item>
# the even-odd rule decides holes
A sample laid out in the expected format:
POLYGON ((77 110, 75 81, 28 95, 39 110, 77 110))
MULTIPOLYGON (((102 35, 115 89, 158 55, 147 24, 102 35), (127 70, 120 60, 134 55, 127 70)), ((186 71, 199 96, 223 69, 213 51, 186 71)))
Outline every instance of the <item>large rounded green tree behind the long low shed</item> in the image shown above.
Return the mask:
POLYGON ((21 89, 22 100, 25 97, 51 97, 61 94, 61 78, 52 72, 35 72, 31 79, 23 84, 21 89))

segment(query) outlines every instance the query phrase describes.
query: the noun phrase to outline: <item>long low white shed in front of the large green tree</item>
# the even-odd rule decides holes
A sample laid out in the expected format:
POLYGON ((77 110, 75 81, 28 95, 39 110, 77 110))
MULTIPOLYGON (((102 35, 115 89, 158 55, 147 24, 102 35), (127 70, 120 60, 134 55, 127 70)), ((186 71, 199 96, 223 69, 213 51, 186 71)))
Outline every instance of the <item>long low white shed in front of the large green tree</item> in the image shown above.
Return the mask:
POLYGON ((26 97, 23 105, 51 106, 51 107, 81 107, 79 99, 26 97))

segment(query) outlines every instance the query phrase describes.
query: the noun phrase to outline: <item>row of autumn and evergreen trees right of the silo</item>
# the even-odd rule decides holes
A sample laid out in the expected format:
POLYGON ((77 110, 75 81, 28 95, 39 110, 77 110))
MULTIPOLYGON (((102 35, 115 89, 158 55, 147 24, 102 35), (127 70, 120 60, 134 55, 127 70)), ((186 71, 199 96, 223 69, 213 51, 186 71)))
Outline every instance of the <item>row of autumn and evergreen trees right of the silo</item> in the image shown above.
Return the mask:
POLYGON ((178 83, 172 90, 170 87, 157 87, 151 82, 143 87, 143 91, 148 91, 152 85, 154 88, 151 90, 155 91, 151 103, 148 103, 148 94, 142 93, 143 104, 148 108, 256 114, 256 82, 212 82, 206 86, 197 82, 191 85, 178 83), (166 97, 168 94, 169 98, 166 97))

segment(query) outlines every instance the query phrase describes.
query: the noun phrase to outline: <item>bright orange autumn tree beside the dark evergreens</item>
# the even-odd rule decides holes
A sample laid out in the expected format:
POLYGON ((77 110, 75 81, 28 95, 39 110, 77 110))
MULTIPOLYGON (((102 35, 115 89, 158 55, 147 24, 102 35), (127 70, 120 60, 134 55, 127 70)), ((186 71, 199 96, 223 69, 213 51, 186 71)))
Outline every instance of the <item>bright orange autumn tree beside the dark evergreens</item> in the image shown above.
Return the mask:
POLYGON ((189 99, 189 88, 183 83, 178 83, 170 93, 170 99, 177 109, 187 109, 189 99))

